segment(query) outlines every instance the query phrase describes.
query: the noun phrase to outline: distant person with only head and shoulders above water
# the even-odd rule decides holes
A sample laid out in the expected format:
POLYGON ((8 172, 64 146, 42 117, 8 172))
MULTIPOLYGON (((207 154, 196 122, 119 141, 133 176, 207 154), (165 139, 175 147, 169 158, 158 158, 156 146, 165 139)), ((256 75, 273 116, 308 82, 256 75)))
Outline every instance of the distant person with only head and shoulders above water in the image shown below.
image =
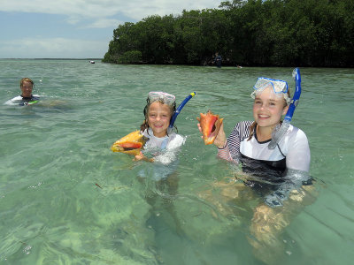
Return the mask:
POLYGON ((28 78, 21 79, 19 81, 19 88, 21 89, 22 94, 5 102, 5 104, 27 106, 38 102, 39 96, 32 95, 32 90, 34 87, 35 87, 35 83, 32 79, 28 79, 28 78))

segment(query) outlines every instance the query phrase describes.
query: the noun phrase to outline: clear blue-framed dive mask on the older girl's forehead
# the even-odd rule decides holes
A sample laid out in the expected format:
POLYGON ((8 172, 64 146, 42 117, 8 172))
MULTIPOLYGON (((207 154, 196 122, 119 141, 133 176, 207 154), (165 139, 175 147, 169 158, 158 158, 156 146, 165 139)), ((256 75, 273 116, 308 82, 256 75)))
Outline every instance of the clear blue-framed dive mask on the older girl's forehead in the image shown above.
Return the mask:
POLYGON ((256 94, 261 93, 269 86, 273 87, 273 92, 276 96, 284 97, 285 101, 289 105, 290 98, 288 95, 288 83, 280 79, 268 79, 264 77, 258 78, 256 84, 253 86, 254 91, 252 92, 250 97, 255 99, 256 94))

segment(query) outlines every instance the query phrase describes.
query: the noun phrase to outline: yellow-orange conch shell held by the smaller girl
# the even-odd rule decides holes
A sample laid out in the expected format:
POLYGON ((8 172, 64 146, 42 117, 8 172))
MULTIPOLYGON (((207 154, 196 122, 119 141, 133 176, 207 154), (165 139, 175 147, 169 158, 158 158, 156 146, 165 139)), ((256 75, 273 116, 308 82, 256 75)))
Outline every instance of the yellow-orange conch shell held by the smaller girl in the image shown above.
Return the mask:
POLYGON ((140 131, 129 133, 113 143, 111 150, 128 155, 139 155, 145 139, 140 131))

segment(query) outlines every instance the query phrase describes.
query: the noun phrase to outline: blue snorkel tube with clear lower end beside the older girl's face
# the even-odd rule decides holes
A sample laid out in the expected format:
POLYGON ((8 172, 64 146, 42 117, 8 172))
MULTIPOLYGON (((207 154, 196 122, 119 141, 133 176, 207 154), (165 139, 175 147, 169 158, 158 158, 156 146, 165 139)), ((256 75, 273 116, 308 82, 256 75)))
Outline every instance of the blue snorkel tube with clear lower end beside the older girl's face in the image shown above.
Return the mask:
POLYGON ((269 149, 275 148, 279 143, 279 141, 281 140, 281 138, 284 136, 284 134, 288 131, 291 118, 293 117, 295 108, 299 102, 300 95, 301 95, 301 76, 300 76, 300 70, 298 68, 295 68, 293 70, 293 78, 295 79, 295 85, 296 85, 294 96, 291 99, 289 110, 284 117, 281 127, 278 130, 274 130, 272 133, 272 140, 268 145, 269 149))

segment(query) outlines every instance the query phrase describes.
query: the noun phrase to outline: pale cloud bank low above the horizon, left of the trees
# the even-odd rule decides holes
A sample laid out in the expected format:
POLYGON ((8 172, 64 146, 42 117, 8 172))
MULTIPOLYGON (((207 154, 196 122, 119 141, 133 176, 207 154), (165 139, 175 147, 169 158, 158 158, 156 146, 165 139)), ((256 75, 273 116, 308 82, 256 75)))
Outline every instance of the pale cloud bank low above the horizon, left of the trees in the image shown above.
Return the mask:
POLYGON ((7 58, 87 58, 104 57, 109 40, 85 41, 65 38, 27 38, 0 41, 1 53, 7 58))

